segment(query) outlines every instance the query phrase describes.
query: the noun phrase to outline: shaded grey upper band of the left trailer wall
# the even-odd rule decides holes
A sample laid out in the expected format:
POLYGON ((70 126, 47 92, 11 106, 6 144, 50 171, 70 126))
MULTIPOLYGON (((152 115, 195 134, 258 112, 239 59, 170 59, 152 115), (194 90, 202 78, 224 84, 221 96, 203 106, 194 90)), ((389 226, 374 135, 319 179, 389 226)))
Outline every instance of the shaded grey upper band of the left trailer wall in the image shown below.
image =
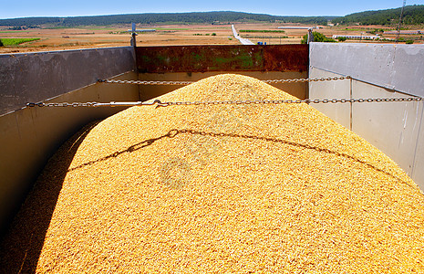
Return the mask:
POLYGON ((0 54, 0 115, 134 69, 133 47, 0 54))

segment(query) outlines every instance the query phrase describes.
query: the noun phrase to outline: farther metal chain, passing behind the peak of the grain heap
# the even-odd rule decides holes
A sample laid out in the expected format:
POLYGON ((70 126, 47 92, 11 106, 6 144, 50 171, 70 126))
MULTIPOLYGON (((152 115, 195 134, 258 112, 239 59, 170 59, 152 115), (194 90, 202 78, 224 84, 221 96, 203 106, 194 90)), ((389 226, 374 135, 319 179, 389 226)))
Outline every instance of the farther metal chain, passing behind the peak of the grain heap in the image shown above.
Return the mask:
MULTIPOLYGON (((330 81, 339 79, 351 79, 350 76, 328 77, 328 78, 313 78, 313 79, 268 79, 262 80, 265 83, 303 83, 303 82, 317 82, 317 81, 330 81)), ((108 84, 134 84, 134 85, 190 85, 195 81, 141 81, 141 80, 115 80, 115 79, 99 79, 100 83, 108 84)))

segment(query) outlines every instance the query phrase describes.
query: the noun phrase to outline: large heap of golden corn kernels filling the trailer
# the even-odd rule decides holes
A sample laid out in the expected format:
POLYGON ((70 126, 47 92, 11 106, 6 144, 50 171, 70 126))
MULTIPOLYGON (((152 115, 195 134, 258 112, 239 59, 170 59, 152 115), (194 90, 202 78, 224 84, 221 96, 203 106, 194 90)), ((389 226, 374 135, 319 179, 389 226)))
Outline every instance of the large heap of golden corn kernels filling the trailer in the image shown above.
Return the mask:
MULTIPOLYGON (((158 99, 295 98, 225 74, 158 99)), ((83 133, 17 216, 2 246, 10 269, 424 272, 417 184, 304 103, 133 107, 83 133)))

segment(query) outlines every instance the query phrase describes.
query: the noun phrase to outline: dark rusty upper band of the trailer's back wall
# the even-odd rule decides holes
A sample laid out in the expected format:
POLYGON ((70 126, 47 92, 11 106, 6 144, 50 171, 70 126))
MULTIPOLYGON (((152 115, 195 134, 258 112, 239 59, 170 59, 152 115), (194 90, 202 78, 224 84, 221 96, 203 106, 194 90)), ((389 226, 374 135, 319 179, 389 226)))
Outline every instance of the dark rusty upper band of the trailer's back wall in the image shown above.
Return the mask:
POLYGON ((307 71, 307 45, 137 47, 140 73, 307 71))

